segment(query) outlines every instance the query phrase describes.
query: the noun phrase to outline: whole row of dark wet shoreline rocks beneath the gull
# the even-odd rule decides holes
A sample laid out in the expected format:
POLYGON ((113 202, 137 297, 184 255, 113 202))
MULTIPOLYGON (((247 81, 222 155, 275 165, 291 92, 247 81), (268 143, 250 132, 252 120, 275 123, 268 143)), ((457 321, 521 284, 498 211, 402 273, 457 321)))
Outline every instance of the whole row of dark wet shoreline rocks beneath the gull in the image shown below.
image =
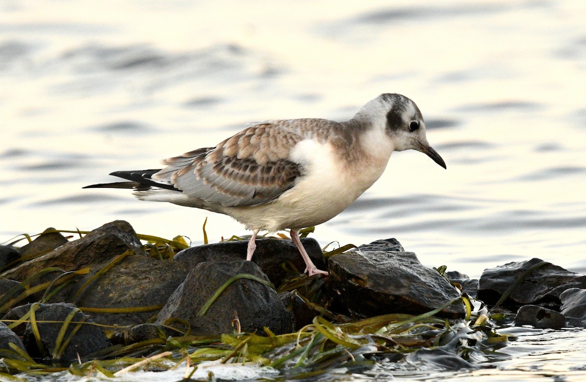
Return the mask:
MULTIPOLYGON (((124 331, 133 333, 123 336, 125 345, 179 336, 188 328, 190 333, 206 335, 236 331, 263 335, 265 328, 279 334, 294 332, 325 313, 339 322, 389 313, 427 313, 459 298, 461 292, 454 285, 462 286, 468 295, 478 292, 478 298, 490 306, 526 274, 503 303, 512 309, 535 305, 519 312, 517 325, 559 327, 565 320, 586 318, 582 308, 586 275, 541 264, 539 259, 486 270, 478 282, 448 272, 450 282, 424 267, 396 239, 373 241, 327 261, 317 241, 305 238, 302 243, 319 268, 329 268, 328 278, 295 273, 295 268, 304 270, 304 262, 288 240, 258 239, 251 262, 243 260, 247 241, 200 245, 179 251, 172 260, 157 260, 147 255, 125 221, 104 224, 71 241, 48 228, 22 248, 0 246, 0 262, 9 268, 0 279, 1 313, 5 320, 18 320, 30 314, 30 303, 35 303, 37 320, 47 310, 52 312, 47 313, 47 320, 64 322, 72 315, 76 321, 117 325, 111 333, 113 340, 120 342, 124 331), (532 267, 536 268, 527 273, 532 267), (230 279, 231 284, 224 285, 230 279), (277 294, 275 288, 282 292, 277 294), (205 314, 198 315, 214 295, 205 314), (550 317, 554 318, 551 322, 546 320, 550 317)), ((464 314, 464 306, 457 301, 438 316, 457 319, 464 314)), ((54 354, 50 344, 62 323, 43 326, 42 350, 29 326, 10 330, 0 325, 0 345, 12 342, 34 356, 54 354), (19 336, 24 339, 20 343, 19 336)), ((86 327, 91 327, 87 329, 92 333, 90 339, 80 340, 83 343, 78 345, 74 337, 66 349, 57 352, 59 361, 110 346, 102 329, 93 325, 81 329, 86 327)))

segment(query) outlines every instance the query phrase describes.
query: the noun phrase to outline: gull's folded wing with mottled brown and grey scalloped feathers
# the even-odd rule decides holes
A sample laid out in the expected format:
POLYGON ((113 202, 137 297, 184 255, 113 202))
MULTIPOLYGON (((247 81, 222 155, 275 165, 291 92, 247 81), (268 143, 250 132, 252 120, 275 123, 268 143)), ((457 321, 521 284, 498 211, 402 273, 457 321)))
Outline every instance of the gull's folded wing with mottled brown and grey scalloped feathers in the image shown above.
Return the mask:
POLYGON ((226 207, 251 206, 280 196, 302 175, 289 160, 291 149, 306 138, 294 121, 274 121, 244 129, 214 148, 166 159, 152 176, 184 194, 226 207))

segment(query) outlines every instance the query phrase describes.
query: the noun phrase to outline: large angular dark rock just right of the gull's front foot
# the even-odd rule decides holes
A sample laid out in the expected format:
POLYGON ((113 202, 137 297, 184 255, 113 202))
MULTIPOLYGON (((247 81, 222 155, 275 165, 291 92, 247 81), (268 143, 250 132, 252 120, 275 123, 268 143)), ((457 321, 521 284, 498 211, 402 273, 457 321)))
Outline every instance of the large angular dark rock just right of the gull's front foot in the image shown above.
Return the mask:
MULTIPOLYGON (((329 259, 331 288, 353 315, 418 315, 460 296, 437 271, 421 265, 414 253, 397 251, 396 244, 388 245, 390 250, 378 249, 383 245, 375 241, 329 259)), ((438 315, 462 317, 464 305, 452 304, 438 315)))

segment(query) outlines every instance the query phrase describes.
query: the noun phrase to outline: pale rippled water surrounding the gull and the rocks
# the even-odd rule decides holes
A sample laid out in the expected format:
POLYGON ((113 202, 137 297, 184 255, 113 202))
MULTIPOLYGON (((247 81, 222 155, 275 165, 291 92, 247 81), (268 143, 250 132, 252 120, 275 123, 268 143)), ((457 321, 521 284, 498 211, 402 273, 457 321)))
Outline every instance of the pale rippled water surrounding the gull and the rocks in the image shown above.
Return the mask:
MULTIPOLYGON (((397 92, 419 105, 448 169, 393 154, 316 228, 322 245, 396 237, 425 265, 471 277, 532 257, 586 272, 585 19, 580 0, 2 2, 0 240, 115 219, 194 244, 206 217, 210 241, 245 234, 229 217, 81 187, 250 121, 346 120, 397 92)), ((585 355, 553 337, 564 362, 585 355)), ((509 374, 464 377, 492 372, 509 374)))

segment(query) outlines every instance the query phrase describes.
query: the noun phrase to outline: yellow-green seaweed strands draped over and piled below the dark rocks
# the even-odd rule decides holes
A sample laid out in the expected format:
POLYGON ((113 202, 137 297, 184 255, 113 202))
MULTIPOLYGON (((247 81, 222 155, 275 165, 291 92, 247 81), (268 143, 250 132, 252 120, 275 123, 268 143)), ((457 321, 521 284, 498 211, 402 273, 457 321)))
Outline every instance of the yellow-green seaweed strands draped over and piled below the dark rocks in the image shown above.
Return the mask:
MULTIPOLYGON (((207 244, 205 224, 206 222, 203 224, 203 237, 207 244)), ((80 230, 54 230, 54 232, 74 233, 80 237, 88 233, 80 230)), ((301 236, 306 237, 312 232, 314 232, 313 227, 306 228, 301 231, 301 236)), ((15 245, 22 240, 30 242, 33 237, 38 235, 22 234, 21 236, 22 238, 13 238, 9 245, 15 245)), ((145 242, 143 248, 147 255, 159 261, 168 261, 180 250, 189 247, 188 242, 182 236, 176 236, 172 240, 144 234, 139 234, 138 237, 145 242)), ((285 233, 278 233, 273 237, 288 238, 285 233)), ((247 240, 247 238, 246 236, 231 236, 227 240, 247 240)), ((355 245, 347 244, 327 251, 331 244, 323 248, 325 257, 331 257, 350 248, 355 248, 355 245)), ((131 253, 132 251, 129 250, 113 257, 107 265, 80 286, 75 299, 81 295, 90 282, 101 277, 131 253)), ((30 260, 30 258, 23 260, 30 260)), ((15 267, 23 260, 12 262, 8 268, 15 267)), ((319 313, 310 325, 304 326, 297 332, 275 335, 268 328, 265 328, 264 333, 243 333, 240 331, 239 322, 236 319, 232 333, 224 333, 221 336, 192 335, 188 323, 174 319, 168 320, 163 327, 173 330, 175 335, 169 336, 163 330, 159 330, 159 336, 156 338, 136 343, 118 343, 91 354, 89 360, 79 359, 77 363, 66 366, 57 364, 56 366, 53 361, 62 357, 71 337, 83 325, 100 326, 110 338, 116 335, 128 338, 129 327, 101 325, 85 320, 74 321, 77 312, 153 312, 155 314, 162 308, 162 306, 115 309, 81 307, 71 311, 69 316, 60 322, 62 327, 54 343, 54 351, 52 354, 41 354, 42 360, 33 359, 14 344, 10 344, 10 349, 1 349, 0 366, 3 369, 0 373, 0 379, 25 381, 27 376, 56 372, 69 373, 74 376, 115 378, 138 369, 170 370, 178 367, 179 364, 186 363, 185 380, 189 380, 197 365, 204 361, 220 361, 230 364, 253 362, 279 370, 284 378, 304 379, 331 373, 332 370, 337 370, 340 367, 345 367, 349 370, 348 372, 366 370, 383 359, 401 361, 408 354, 423 348, 448 350, 468 361, 504 357, 497 350, 509 340, 510 336, 500 335, 496 332, 493 320, 490 318, 491 313, 483 306, 482 302, 461 296, 422 315, 390 313, 364 319, 353 319, 331 309, 331 301, 324 292, 326 285, 323 278, 319 275, 313 277, 301 275, 291 264, 283 266, 288 267, 292 273, 291 277, 277 286, 277 292, 294 292, 309 308, 319 313), (448 320, 435 316, 452 303, 461 302, 466 308, 464 319, 448 320), (185 330, 171 327, 171 323, 180 323, 185 326, 185 330), (73 330, 69 330, 71 328, 73 330), (190 369, 191 367, 193 369, 190 369), (15 377, 13 374, 19 374, 19 376, 15 377)), ((48 301, 50 296, 59 292, 60 288, 70 282, 79 281, 88 272, 90 272, 89 268, 71 272, 65 272, 59 268, 46 268, 19 282, 19 285, 9 289, 0 298, 0 313, 8 312, 31 296, 41 295, 41 292, 42 295, 38 302, 32 303, 28 311, 20 318, 3 321, 11 329, 30 323, 38 347, 43 349, 40 344, 39 321, 35 315, 38 303, 48 301)), ((438 272, 443 275, 445 267, 438 268, 438 272)), ((214 299, 230 282, 237 278, 253 278, 255 281, 275 288, 272 284, 252 275, 236 275, 217 290, 199 314, 205 314, 214 299)))

